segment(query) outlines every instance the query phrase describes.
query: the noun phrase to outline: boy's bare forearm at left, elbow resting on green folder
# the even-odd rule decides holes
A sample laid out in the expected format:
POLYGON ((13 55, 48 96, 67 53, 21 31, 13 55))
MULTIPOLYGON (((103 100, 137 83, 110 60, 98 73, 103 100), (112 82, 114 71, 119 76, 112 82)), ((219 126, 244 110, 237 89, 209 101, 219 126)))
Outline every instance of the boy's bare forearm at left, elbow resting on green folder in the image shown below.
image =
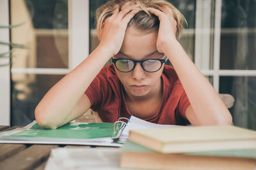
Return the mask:
POLYGON ((67 123, 84 91, 110 58, 108 50, 98 46, 79 66, 54 85, 38 106, 35 117, 46 128, 67 123))

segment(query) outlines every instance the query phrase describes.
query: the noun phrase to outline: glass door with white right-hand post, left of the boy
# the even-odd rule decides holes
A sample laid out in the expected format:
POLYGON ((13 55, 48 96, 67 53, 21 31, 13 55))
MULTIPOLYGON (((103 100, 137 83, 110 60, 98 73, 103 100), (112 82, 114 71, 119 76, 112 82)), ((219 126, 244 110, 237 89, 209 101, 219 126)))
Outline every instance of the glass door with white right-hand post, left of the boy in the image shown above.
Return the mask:
POLYGON ((88 1, 10 1, 12 41, 12 125, 35 120, 45 93, 88 55, 88 1))

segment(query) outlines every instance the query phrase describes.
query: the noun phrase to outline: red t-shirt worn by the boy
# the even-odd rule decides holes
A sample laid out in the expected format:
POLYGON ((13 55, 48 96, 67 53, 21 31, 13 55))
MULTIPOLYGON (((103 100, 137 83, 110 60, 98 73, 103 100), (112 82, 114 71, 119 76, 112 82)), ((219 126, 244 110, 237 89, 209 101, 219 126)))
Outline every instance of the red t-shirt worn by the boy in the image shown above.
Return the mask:
MULTIPOLYGON (((156 115, 145 120, 156 124, 189 124, 186 118, 189 99, 173 67, 165 65, 161 79, 162 106, 156 115)), ((99 113, 103 122, 116 122, 120 117, 129 118, 132 115, 125 103, 123 85, 116 75, 113 64, 102 68, 85 94, 90 99, 92 110, 99 113)))

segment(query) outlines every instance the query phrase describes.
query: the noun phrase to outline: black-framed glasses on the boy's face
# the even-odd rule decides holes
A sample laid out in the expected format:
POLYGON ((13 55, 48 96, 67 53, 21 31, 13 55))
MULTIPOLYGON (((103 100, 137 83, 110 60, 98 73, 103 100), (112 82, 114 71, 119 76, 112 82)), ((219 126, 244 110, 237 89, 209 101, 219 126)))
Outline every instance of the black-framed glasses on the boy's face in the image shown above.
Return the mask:
POLYGON ((154 73, 156 71, 159 71, 159 69, 161 69, 164 62, 166 62, 167 57, 165 56, 164 59, 145 59, 145 60, 113 59, 112 57, 111 60, 115 64, 116 69, 124 73, 132 71, 136 67, 137 62, 140 62, 140 65, 144 71, 147 71, 149 73, 154 73))

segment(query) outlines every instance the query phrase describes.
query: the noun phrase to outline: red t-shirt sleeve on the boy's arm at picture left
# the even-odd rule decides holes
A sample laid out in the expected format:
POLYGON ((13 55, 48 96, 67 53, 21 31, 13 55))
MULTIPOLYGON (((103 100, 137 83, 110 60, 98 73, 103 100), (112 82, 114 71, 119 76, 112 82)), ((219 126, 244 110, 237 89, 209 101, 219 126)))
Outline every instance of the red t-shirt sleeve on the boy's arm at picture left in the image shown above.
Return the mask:
MULTIPOLYGON (((97 111, 97 108, 100 108, 100 104, 102 101, 102 89, 100 87, 104 87, 104 78, 100 78, 100 75, 98 74, 88 89, 84 92, 86 96, 90 99, 91 102, 91 109, 93 111, 97 111)), ((106 83, 105 83, 106 84, 106 83)))

